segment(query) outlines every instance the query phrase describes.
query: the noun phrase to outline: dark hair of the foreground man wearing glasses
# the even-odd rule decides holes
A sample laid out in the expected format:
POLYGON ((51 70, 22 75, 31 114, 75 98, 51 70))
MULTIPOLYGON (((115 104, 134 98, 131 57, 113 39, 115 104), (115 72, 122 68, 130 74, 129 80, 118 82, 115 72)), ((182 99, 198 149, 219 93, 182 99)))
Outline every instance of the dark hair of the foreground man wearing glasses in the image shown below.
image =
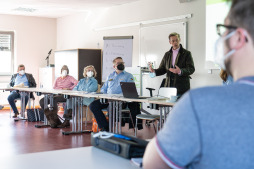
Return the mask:
POLYGON ((254 0, 231 0, 231 3, 230 25, 244 28, 254 39, 254 0))

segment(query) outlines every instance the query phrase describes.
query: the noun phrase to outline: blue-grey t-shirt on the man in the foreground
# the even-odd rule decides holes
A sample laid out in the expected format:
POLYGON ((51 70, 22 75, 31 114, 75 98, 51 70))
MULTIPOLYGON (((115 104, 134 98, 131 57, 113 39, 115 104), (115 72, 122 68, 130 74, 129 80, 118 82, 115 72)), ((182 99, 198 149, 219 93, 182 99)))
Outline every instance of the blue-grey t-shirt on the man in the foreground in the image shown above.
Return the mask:
POLYGON ((156 137, 171 168, 254 168, 254 77, 191 90, 156 137))

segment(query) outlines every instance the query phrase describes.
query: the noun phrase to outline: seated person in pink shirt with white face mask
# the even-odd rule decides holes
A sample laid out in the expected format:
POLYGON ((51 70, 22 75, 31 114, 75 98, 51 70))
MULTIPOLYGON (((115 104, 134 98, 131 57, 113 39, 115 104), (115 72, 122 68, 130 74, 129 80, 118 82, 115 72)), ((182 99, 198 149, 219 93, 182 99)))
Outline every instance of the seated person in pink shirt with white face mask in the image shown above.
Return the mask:
MULTIPOLYGON (((69 75, 69 69, 68 66, 63 65, 62 69, 61 69, 61 77, 58 77, 54 83, 53 89, 59 89, 59 90, 72 90, 76 85, 78 84, 78 81, 69 75)), ((54 121, 52 120, 52 118, 49 118, 51 116, 54 115, 54 117, 56 117, 55 115, 57 114, 58 111, 58 107, 57 104, 58 102, 66 102, 66 99, 64 98, 63 95, 54 95, 54 101, 53 101, 53 111, 49 111, 49 109, 45 109, 45 115, 47 117, 47 119, 50 122, 50 126, 52 128, 56 128, 57 125, 60 125, 60 120, 54 121)), ((49 103, 49 99, 48 99, 48 103, 49 103)), ((42 109, 44 109, 44 98, 42 98, 40 100, 40 106, 42 109)))

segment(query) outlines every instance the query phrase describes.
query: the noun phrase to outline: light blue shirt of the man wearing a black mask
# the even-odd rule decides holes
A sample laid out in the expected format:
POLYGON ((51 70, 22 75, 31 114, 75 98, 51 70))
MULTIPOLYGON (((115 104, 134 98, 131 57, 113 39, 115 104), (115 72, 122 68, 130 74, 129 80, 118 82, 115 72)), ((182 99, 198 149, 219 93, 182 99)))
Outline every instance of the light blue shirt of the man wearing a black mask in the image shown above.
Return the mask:
POLYGON ((119 74, 114 71, 108 76, 106 82, 101 88, 101 92, 104 94, 121 94, 122 89, 120 82, 134 82, 134 77, 126 71, 119 74))

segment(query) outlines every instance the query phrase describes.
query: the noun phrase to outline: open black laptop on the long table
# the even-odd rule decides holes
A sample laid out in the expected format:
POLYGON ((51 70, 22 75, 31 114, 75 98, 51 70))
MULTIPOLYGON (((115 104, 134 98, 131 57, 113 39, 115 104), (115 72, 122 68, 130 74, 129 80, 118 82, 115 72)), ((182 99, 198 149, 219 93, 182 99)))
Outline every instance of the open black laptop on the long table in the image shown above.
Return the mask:
POLYGON ((134 82, 120 82, 120 86, 125 98, 147 99, 150 97, 138 96, 137 88, 134 82))

